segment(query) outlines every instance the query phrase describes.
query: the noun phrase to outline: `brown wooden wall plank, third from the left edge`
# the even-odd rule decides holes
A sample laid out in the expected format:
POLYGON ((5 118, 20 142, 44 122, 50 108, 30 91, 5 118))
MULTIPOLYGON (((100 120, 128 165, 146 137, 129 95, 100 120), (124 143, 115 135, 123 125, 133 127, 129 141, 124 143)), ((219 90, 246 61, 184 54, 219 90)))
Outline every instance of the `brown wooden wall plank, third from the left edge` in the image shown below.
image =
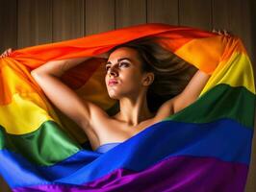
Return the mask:
POLYGON ((53 0, 53 41, 84 36, 84 0, 53 0))

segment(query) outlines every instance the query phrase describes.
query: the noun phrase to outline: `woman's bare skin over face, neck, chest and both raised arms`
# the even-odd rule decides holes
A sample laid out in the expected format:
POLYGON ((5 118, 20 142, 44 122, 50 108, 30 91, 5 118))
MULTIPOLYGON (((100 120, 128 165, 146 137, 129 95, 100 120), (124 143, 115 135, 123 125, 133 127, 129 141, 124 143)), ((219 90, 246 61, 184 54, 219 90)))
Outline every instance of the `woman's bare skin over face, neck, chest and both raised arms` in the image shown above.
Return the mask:
MULTIPOLYGON (((146 104, 146 91, 154 74, 142 72, 137 51, 122 47, 108 58, 106 86, 109 96, 119 100, 120 111, 109 116, 102 108, 82 100, 60 81, 64 71, 89 58, 48 61, 31 75, 49 100, 87 133, 93 150, 109 142, 123 142, 167 116, 191 105, 207 83, 210 75, 198 70, 182 93, 166 101, 156 113, 146 104), (128 58, 129 60, 119 59, 128 58), (109 85, 110 79, 117 84, 109 85), (51 91, 51 90, 55 91, 51 91)), ((102 55, 99 57, 103 57, 102 55)), ((106 56, 104 56, 106 57, 106 56)))

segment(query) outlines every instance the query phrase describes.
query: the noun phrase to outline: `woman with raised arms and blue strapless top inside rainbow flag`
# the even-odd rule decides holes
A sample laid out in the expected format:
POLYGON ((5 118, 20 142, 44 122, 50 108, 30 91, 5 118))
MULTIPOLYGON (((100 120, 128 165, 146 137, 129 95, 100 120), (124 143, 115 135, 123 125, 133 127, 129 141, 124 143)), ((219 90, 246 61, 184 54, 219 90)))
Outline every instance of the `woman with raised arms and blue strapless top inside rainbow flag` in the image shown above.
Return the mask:
MULTIPOLYGON (((2 57, 11 53, 9 49, 2 57)), ((119 111, 113 116, 82 100, 60 81, 66 70, 89 60, 89 57, 48 61, 31 71, 31 75, 49 100, 86 132, 91 148, 100 153, 188 107, 210 78, 210 75, 197 70, 192 79, 189 78, 189 84, 188 78, 187 82, 180 81, 178 77, 192 74, 196 68, 192 69, 192 65, 180 60, 150 37, 118 45, 108 54, 98 57, 108 58, 105 83, 109 96, 119 102, 119 111), (166 81, 170 83, 166 86, 170 87, 169 94, 163 92, 167 90, 166 81), (164 99, 149 107, 148 100, 150 96, 151 100, 154 99, 154 95, 157 98, 162 95, 164 99)))

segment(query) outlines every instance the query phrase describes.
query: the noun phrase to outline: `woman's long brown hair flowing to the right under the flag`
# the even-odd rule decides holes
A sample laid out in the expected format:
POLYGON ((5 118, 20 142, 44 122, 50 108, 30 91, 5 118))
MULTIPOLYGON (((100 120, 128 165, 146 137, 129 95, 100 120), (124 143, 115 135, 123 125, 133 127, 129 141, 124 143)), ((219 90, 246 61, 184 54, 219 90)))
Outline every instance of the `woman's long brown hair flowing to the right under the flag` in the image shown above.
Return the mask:
POLYGON ((190 82, 197 68, 182 60, 159 43, 157 36, 146 36, 115 46, 137 50, 142 71, 153 72, 155 79, 147 90, 150 111, 156 111, 166 100, 178 95, 190 82))

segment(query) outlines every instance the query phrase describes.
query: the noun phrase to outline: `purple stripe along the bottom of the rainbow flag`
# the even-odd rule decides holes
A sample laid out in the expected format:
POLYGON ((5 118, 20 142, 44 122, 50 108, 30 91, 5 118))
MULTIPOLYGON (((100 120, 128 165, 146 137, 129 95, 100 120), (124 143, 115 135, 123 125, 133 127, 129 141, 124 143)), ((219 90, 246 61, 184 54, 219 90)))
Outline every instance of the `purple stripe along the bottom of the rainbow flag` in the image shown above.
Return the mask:
POLYGON ((171 156, 141 172, 117 169, 83 185, 51 182, 14 188, 13 191, 243 192, 247 171, 246 164, 213 157, 171 156))

